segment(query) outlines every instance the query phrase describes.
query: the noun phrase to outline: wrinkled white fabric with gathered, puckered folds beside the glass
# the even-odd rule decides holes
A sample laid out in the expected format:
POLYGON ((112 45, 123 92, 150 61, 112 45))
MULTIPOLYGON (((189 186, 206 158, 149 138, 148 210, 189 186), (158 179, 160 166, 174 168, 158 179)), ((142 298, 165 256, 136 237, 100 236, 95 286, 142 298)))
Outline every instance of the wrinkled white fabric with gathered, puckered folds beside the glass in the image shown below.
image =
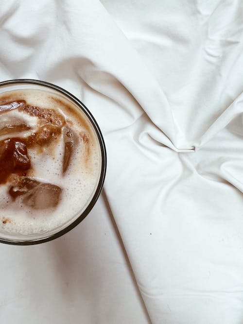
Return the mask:
POLYGON ((1 80, 63 86, 99 122, 151 322, 242 323, 243 1, 6 1, 0 37, 1 80))

